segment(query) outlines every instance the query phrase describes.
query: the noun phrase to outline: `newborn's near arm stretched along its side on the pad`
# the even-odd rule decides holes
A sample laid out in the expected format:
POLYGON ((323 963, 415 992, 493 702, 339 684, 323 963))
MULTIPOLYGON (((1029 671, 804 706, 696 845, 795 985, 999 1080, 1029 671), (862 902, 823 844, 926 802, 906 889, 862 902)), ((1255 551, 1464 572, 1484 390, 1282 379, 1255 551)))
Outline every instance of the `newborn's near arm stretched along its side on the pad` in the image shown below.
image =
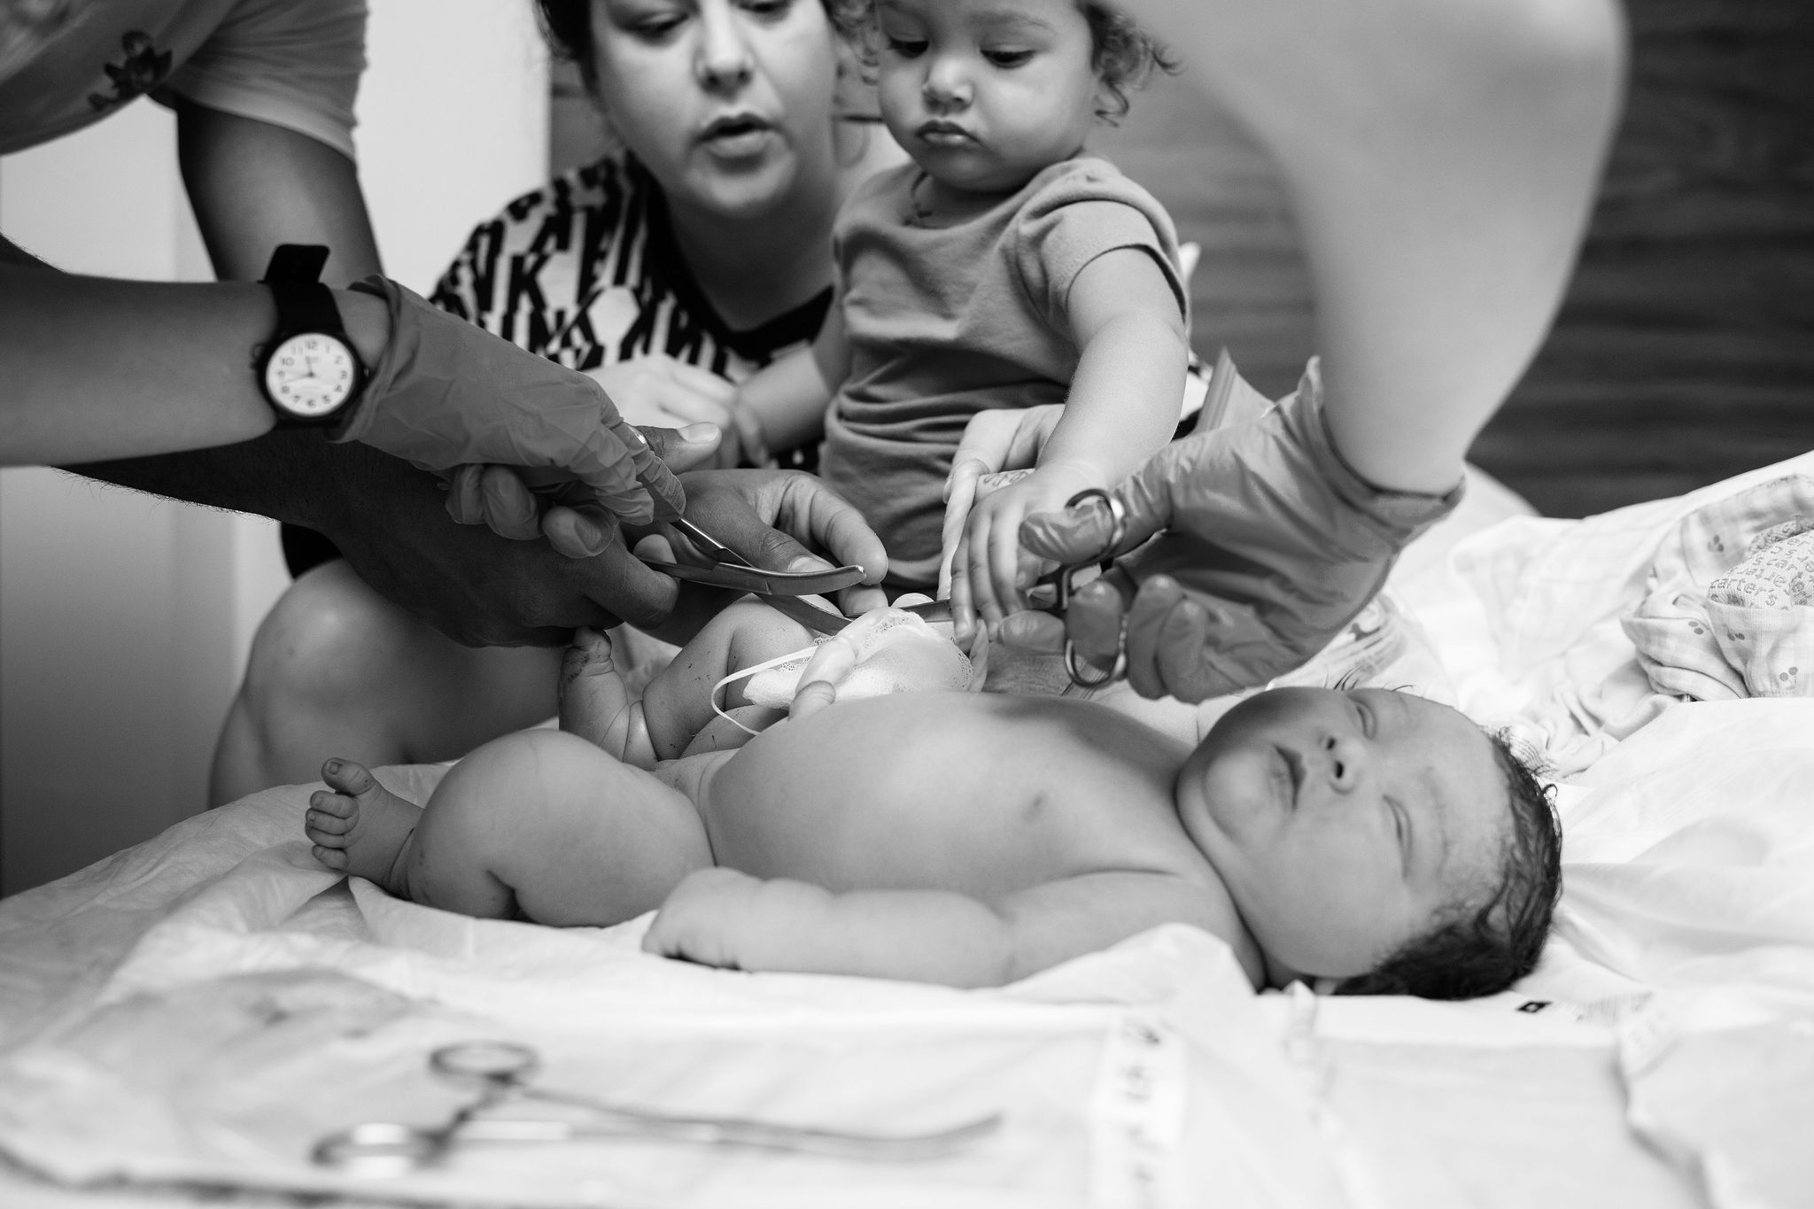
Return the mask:
POLYGON ((1001 986, 1163 923, 1215 930, 1215 901, 1201 883, 1150 870, 1083 874, 985 903, 945 890, 833 894, 709 868, 668 895, 642 948, 731 970, 1001 986))

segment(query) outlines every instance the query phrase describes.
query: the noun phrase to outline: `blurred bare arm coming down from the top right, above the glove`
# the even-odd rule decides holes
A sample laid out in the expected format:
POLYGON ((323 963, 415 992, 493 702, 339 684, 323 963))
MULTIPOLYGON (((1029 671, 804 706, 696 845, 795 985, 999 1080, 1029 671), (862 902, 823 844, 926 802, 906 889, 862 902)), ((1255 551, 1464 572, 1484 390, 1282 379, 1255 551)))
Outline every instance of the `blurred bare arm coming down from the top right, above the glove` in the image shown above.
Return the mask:
POLYGON ((1284 178, 1337 448, 1379 486, 1451 488, 1567 285, 1620 103, 1618 5, 1123 4, 1284 178))

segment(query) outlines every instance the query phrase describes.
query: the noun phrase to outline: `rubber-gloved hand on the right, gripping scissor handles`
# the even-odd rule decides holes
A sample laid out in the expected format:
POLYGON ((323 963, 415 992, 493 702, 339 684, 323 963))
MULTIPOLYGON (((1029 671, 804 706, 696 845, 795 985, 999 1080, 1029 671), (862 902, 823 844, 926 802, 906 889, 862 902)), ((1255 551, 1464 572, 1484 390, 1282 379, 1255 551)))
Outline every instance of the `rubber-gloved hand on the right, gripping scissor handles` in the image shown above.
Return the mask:
MULTIPOLYGON (((1302 665, 1379 591, 1399 551, 1460 502, 1382 491, 1330 440, 1315 363, 1297 395, 1246 424, 1174 440, 1116 489, 1125 553, 1059 622, 1016 613, 1010 645, 1056 651, 1065 634, 1097 669, 1126 625, 1128 683, 1148 698, 1201 701, 1302 665), (1163 533, 1161 533, 1163 531, 1163 533)), ((1029 517, 1036 555, 1081 562, 1108 542, 1108 509, 1029 517)))

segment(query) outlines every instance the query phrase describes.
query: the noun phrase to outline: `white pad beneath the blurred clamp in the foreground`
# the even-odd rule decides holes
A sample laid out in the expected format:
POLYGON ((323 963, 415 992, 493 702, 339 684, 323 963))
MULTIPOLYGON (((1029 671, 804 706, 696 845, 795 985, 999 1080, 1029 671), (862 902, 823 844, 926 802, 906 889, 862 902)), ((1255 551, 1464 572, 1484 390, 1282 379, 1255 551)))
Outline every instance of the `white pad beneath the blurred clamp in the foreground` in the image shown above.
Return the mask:
MULTIPOLYGON (((412 796, 435 774, 399 785, 383 770, 412 796)), ((847 1205, 856 1187, 883 1207, 1132 1209, 1192 1205, 1208 1184, 1239 1204, 1342 1204, 1304 1089, 1228 948, 1201 932, 1146 933, 1007 991, 746 975, 642 953, 646 919, 553 930, 348 883, 287 839, 296 805, 268 790, 192 819, 198 837, 227 827, 241 843, 201 863, 194 845, 152 846, 114 870, 123 910, 63 915, 62 944, 103 939, 132 904, 158 912, 169 877, 105 981, 71 990, 82 1010, 5 1039, 0 1151, 15 1164, 76 1187, 512 1205, 847 1205), (357 1122, 444 1120, 466 1093, 432 1078, 426 1055, 463 1039, 533 1046, 539 1082, 668 1113, 1005 1124, 896 1164, 619 1140, 475 1149, 377 1184, 310 1162, 319 1136, 357 1122)))

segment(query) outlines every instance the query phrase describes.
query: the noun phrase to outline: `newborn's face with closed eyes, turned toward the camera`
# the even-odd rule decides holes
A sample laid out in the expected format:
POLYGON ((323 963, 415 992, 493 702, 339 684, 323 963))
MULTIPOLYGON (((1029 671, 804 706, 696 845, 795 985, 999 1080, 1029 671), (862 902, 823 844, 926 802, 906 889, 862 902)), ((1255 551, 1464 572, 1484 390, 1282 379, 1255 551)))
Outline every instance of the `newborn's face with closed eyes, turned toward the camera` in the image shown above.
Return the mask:
POLYGON ((1177 774, 1177 812, 1273 979, 1353 977, 1497 877, 1509 790, 1491 740, 1388 689, 1241 701, 1177 774))

